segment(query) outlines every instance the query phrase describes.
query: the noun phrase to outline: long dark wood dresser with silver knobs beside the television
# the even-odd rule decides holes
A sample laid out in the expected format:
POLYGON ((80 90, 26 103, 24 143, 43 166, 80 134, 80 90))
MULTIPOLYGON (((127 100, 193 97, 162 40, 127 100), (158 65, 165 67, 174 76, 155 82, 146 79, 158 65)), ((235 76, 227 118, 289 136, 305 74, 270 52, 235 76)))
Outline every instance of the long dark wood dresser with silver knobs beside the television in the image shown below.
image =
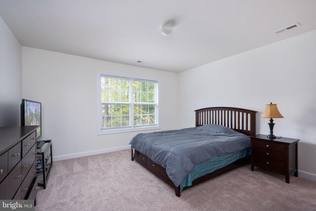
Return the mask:
POLYGON ((0 199, 36 199, 36 128, 0 127, 0 199))

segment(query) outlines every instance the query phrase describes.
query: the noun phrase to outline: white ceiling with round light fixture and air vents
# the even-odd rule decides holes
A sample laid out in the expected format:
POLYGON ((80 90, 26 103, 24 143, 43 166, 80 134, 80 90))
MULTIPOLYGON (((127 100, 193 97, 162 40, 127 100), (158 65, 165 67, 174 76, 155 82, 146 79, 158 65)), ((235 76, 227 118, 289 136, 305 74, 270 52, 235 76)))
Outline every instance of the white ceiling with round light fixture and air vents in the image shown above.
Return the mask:
POLYGON ((0 16, 24 46, 181 72, 315 30, 316 0, 0 0, 0 16))

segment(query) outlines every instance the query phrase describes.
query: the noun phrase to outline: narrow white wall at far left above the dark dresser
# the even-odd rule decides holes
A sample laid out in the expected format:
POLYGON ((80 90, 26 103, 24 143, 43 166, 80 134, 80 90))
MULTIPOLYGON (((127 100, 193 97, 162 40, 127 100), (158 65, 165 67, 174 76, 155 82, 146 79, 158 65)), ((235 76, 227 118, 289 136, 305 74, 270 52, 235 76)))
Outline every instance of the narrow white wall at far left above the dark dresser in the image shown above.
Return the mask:
POLYGON ((0 127, 20 125, 22 51, 0 17, 0 127))

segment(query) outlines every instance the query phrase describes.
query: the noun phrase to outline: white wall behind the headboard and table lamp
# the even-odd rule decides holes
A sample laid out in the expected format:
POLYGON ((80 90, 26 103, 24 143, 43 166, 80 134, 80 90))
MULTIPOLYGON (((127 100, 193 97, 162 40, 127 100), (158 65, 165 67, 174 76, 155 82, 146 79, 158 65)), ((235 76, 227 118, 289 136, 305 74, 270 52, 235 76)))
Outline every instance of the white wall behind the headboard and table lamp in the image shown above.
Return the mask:
POLYGON ((277 103, 277 136, 299 138, 299 169, 316 176, 316 31, 269 44, 179 74, 179 127, 194 127, 193 110, 231 106, 258 111, 277 103))

